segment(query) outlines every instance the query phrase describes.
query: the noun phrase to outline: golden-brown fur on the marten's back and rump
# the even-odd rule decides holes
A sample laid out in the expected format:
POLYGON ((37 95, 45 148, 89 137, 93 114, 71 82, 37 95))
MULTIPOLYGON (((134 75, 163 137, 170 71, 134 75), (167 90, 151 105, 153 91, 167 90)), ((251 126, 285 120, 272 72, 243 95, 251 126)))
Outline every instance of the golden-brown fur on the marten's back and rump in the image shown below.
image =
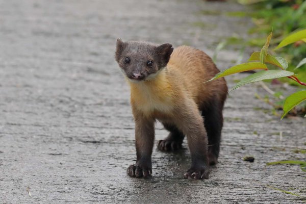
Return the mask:
POLYGON ((211 58, 199 49, 180 46, 173 50, 167 65, 170 75, 176 73, 186 91, 200 107, 212 97, 226 97, 227 87, 224 78, 204 83, 219 72, 211 58), (224 96, 225 95, 225 96, 224 96))

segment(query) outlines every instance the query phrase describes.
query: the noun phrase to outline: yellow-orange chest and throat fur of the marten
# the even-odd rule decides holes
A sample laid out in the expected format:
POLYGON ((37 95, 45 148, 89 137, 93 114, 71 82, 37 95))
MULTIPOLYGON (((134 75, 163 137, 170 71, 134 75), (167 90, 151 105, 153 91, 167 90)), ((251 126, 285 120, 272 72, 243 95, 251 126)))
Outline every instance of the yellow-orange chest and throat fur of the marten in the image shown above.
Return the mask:
POLYGON ((130 82, 131 103, 144 113, 169 113, 173 110, 173 87, 160 73, 156 79, 139 83, 130 82))

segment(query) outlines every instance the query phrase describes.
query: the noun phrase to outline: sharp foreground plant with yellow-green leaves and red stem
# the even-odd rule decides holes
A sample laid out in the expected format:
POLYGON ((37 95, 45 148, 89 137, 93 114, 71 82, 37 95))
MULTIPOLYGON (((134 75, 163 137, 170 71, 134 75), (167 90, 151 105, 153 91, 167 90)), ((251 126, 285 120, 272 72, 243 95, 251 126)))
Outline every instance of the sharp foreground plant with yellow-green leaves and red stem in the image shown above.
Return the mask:
MULTIPOLYGON (((300 85, 306 86, 306 83, 301 82, 295 76, 294 72, 286 70, 288 67, 288 62, 284 58, 273 57, 272 55, 268 54, 268 48, 269 48, 271 38, 272 38, 272 32, 267 37, 266 43, 262 47, 261 52, 255 52, 250 56, 249 61, 258 61, 258 62, 247 62, 247 63, 235 65, 231 68, 228 68, 224 71, 219 72, 218 74, 215 75, 215 77, 213 77, 209 81, 216 80, 221 77, 225 77, 227 75, 231 75, 231 74, 238 73, 238 72, 254 70, 254 69, 264 69, 265 71, 253 73, 249 75, 248 77, 242 79, 240 82, 236 84, 236 86, 232 90, 240 86, 243 86, 245 84, 248 84, 248 83, 259 82, 259 81, 263 81, 267 79, 282 78, 282 77, 288 77, 289 79, 299 83, 300 85), (269 70, 266 63, 275 65, 280 70, 279 69, 269 70)), ((306 29, 290 34, 284 40, 282 40, 281 43, 279 43, 275 49, 281 48, 283 46, 294 43, 301 39, 302 40, 306 39, 306 29)), ((300 63, 304 63, 304 62, 301 61, 300 63)), ((288 96, 284 103, 284 108, 283 108, 284 114, 281 119, 283 119, 284 116, 292 108, 294 108, 295 106, 297 106, 298 104, 302 103, 302 101, 305 101, 305 100, 306 100, 306 90, 298 91, 288 96)), ((306 115, 304 117, 306 117, 306 115)))

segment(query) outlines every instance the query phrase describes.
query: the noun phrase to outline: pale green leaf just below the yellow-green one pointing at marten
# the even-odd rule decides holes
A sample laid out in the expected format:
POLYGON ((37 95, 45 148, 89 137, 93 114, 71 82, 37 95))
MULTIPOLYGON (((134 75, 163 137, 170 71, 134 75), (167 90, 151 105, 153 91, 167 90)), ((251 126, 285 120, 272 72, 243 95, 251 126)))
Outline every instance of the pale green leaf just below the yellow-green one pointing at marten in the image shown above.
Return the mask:
POLYGON ((292 76, 293 74, 294 74, 293 72, 285 71, 285 70, 268 70, 268 71, 261 71, 261 72, 253 73, 249 75, 248 77, 242 79, 240 82, 238 82, 231 91, 245 84, 259 82, 263 80, 269 80, 269 79, 289 77, 289 76, 292 76))

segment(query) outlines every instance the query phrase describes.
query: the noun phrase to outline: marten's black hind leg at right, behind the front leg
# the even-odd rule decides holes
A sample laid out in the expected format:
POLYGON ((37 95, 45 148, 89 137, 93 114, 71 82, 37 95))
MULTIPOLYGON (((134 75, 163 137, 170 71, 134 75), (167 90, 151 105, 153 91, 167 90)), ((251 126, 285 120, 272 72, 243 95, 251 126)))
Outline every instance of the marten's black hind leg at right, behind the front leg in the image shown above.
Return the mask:
POLYGON ((218 163, 223 126, 222 109, 222 101, 213 99, 201 110, 208 136, 208 159, 210 165, 218 163))

